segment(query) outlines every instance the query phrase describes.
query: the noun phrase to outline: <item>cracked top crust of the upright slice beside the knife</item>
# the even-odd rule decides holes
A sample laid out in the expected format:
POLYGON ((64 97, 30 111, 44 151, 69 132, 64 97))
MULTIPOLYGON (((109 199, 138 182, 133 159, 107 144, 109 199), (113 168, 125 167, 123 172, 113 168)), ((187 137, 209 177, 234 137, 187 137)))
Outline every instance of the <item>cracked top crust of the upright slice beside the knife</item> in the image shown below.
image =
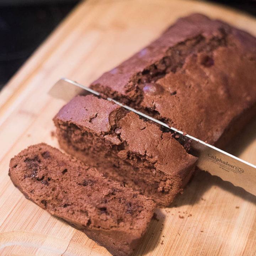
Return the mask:
POLYGON ((113 102, 92 95, 73 98, 54 117, 54 122, 64 129, 73 124, 83 132, 97 134, 131 165, 136 166, 136 157, 139 157, 145 165, 169 176, 183 178, 187 167, 197 160, 170 132, 162 132, 134 112, 127 112, 113 102))

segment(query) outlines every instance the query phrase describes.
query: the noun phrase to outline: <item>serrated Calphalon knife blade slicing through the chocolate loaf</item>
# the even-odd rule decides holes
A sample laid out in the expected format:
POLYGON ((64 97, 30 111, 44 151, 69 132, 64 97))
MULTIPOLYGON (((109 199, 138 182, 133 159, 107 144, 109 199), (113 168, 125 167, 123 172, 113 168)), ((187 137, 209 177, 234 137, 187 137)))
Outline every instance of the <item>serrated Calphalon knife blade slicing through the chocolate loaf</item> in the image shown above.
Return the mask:
MULTIPOLYGON (((60 79, 48 92, 54 98, 60 98, 66 102, 73 97, 83 92, 89 92, 96 96, 103 94, 83 86, 67 78, 60 79)), ((122 103, 113 100, 112 98, 104 97, 106 100, 113 101, 119 106, 126 108, 129 111, 137 113, 140 117, 149 119, 158 123, 162 128, 175 133, 176 138, 183 146, 189 146, 190 154, 197 156, 197 167, 207 171, 212 175, 219 176, 224 181, 229 181, 235 186, 244 188, 247 192, 256 196, 256 166, 246 162, 236 156, 233 156, 221 149, 218 149, 202 140, 194 138, 191 135, 185 134, 174 127, 169 127, 167 124, 150 117, 142 112, 139 112, 131 107, 125 106, 122 103)))

